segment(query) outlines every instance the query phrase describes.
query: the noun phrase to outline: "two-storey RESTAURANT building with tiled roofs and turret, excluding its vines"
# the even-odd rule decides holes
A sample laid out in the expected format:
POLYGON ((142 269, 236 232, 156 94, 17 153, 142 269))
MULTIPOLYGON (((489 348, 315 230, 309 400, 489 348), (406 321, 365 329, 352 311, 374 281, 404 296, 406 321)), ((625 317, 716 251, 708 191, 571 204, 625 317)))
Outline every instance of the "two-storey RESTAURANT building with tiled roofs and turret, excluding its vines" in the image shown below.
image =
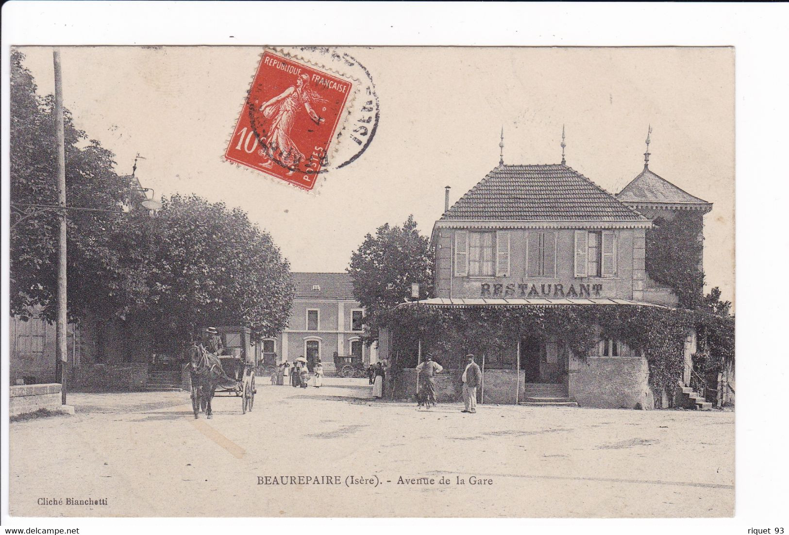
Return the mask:
MULTIPOLYGON (((693 211, 701 218, 711 208, 650 171, 649 146, 644 170, 618 196, 567 166, 564 157, 549 165, 505 165, 502 159, 451 207, 447 189, 445 211, 432 230, 435 297, 401 307, 675 306, 672 290, 646 273, 645 234, 657 215, 693 211)), ((381 332, 382 360, 395 357, 391 331, 381 332)), ((510 342, 507 350, 484 355, 484 402, 653 408, 667 406, 665 397, 672 395, 656 400, 661 395, 649 387, 644 355, 619 340, 600 339, 583 356, 550 337, 510 342)), ((689 332, 683 380, 690 378, 695 351, 689 332)), ((477 364, 483 365, 482 357, 477 364)), ((459 372, 439 381, 439 397, 456 396, 459 372)), ((401 373, 390 394, 405 398, 413 395, 416 378, 408 367, 401 373)))

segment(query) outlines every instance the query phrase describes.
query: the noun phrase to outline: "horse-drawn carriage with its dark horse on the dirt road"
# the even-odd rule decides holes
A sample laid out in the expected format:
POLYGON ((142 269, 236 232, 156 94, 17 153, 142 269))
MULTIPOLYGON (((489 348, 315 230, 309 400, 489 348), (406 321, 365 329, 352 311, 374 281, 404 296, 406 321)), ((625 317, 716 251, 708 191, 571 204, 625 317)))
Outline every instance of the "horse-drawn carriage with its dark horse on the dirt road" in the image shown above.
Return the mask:
MULTIPOLYGON (((216 327, 224 350, 215 357, 199 354, 192 357, 193 408, 197 417, 197 398, 200 410, 211 417, 211 398, 215 395, 241 398, 241 413, 252 410, 255 402, 255 354, 252 351, 249 328, 216 327), (219 366, 216 366, 216 363, 219 366), (202 378, 200 380, 199 378, 202 378), (200 380, 200 385, 195 384, 200 380), (199 391, 199 392, 198 392, 199 391)), ((205 351, 205 350, 203 350, 205 351)))

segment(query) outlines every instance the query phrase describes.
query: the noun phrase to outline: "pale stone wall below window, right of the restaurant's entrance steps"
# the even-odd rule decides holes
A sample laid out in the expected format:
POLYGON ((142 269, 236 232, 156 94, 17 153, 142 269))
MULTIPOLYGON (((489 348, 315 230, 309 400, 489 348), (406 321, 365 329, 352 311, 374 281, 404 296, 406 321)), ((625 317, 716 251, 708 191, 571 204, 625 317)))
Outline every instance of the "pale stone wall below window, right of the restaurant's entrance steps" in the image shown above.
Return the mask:
POLYGON ((643 357, 589 357, 570 369, 568 395, 579 406, 653 409, 648 380, 643 357))

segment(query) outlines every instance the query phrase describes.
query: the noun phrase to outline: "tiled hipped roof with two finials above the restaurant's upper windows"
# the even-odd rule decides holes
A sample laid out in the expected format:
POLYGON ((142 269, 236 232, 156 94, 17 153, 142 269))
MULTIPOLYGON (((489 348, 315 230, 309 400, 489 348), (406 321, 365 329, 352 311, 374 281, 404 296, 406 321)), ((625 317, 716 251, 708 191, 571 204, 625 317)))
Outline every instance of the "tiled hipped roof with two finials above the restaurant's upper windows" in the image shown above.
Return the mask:
POLYGON ((441 219, 646 220, 563 164, 497 166, 441 219))

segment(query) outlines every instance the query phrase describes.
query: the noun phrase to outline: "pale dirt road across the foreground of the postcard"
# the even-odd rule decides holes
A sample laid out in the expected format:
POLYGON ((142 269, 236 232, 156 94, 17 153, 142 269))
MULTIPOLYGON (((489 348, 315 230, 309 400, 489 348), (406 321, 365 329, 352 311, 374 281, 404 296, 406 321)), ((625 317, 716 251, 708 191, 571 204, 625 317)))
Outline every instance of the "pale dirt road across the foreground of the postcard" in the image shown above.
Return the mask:
POLYGON ((70 395, 75 416, 11 424, 10 513, 734 512, 733 412, 480 406, 466 414, 459 405, 426 412, 367 399, 369 388, 366 380, 327 379, 305 390, 260 381, 252 413, 241 414, 238 398, 216 398, 212 420, 194 420, 185 392, 70 395), (69 498, 107 505, 67 505, 69 498))

